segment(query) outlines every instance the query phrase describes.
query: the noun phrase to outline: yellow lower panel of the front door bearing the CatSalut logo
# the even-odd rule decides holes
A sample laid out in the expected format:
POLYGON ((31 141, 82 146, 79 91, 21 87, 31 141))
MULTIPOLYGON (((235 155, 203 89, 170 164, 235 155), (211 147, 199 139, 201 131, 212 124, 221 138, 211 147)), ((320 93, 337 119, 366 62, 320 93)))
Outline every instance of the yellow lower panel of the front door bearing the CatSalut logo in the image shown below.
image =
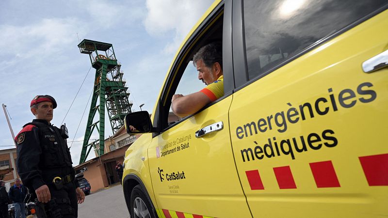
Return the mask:
POLYGON ((208 217, 251 216, 230 144, 231 101, 232 96, 226 97, 152 140, 149 169, 160 209, 208 217), (216 122, 224 128, 195 137, 196 130, 216 122))

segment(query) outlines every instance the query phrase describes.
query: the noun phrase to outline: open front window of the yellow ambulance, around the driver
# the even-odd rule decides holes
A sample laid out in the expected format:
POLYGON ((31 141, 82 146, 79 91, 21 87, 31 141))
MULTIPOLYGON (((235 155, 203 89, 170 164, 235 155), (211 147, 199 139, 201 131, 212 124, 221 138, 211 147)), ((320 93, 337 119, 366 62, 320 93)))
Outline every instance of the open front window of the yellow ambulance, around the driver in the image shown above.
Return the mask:
MULTIPOLYGON (((194 54, 203 46, 210 43, 222 42, 223 37, 223 5, 214 10, 210 18, 200 25, 194 32, 194 35, 189 38, 186 44, 181 48, 181 51, 172 67, 172 71, 167 77, 167 82, 163 88, 162 101, 160 101, 155 114, 154 126, 160 126, 164 131, 178 122, 184 121, 185 118, 178 118, 172 113, 171 99, 174 94, 188 95, 196 93, 206 87, 206 85, 198 79, 198 71, 193 64, 194 54), (155 121, 158 123, 155 125, 155 121)), ((221 99, 221 98, 220 98, 221 99)), ((214 102, 216 104, 217 101, 214 102)), ((207 108, 205 106, 204 108, 207 108)), ((204 109, 203 108, 203 109, 204 109)), ((155 136, 156 134, 154 134, 155 136)))

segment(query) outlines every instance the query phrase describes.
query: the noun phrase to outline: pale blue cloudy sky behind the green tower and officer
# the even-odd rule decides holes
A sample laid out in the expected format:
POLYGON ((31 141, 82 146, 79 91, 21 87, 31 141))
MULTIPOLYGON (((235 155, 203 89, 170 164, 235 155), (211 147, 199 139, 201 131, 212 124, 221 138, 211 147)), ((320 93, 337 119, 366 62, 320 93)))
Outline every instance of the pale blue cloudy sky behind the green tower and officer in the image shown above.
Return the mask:
MULTIPOLYGON (((81 54, 79 39, 113 44, 129 87, 133 109, 152 112, 162 80, 184 37, 212 0, 0 0, 0 103, 15 135, 34 116, 35 95, 52 95, 58 108, 52 124, 64 123, 72 141, 73 165, 80 159, 95 69, 81 54), (77 34, 78 37, 77 38, 77 34), (86 76, 87 75, 87 76, 86 76), (82 113, 86 108, 81 121, 82 113), (81 125, 76 134, 78 125, 81 125)), ((112 135, 106 120, 105 136, 112 135)), ((97 131, 91 139, 95 139, 97 131)), ((0 149, 14 148, 1 108, 0 149)), ((69 146, 71 142, 68 143, 69 146)), ((89 155, 88 159, 94 157, 89 155)))

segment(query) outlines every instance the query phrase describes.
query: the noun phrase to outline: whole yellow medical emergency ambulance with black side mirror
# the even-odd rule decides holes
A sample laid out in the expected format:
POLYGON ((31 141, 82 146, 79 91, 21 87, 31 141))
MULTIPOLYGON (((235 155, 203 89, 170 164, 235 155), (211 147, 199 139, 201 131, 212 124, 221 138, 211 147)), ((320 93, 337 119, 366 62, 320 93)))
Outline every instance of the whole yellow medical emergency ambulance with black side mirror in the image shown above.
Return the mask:
POLYGON ((388 1, 216 0, 126 117, 131 218, 388 217, 388 1), (224 96, 172 122, 222 42, 224 96), (130 126, 140 126, 131 130, 130 126))

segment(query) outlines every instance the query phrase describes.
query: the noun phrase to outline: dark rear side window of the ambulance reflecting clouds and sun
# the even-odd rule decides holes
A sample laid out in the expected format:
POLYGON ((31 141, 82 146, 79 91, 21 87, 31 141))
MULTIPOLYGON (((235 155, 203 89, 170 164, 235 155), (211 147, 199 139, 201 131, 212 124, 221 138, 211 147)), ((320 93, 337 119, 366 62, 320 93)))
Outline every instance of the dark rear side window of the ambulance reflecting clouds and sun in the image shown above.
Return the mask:
POLYGON ((243 1, 249 79, 387 4, 386 0, 243 1))

